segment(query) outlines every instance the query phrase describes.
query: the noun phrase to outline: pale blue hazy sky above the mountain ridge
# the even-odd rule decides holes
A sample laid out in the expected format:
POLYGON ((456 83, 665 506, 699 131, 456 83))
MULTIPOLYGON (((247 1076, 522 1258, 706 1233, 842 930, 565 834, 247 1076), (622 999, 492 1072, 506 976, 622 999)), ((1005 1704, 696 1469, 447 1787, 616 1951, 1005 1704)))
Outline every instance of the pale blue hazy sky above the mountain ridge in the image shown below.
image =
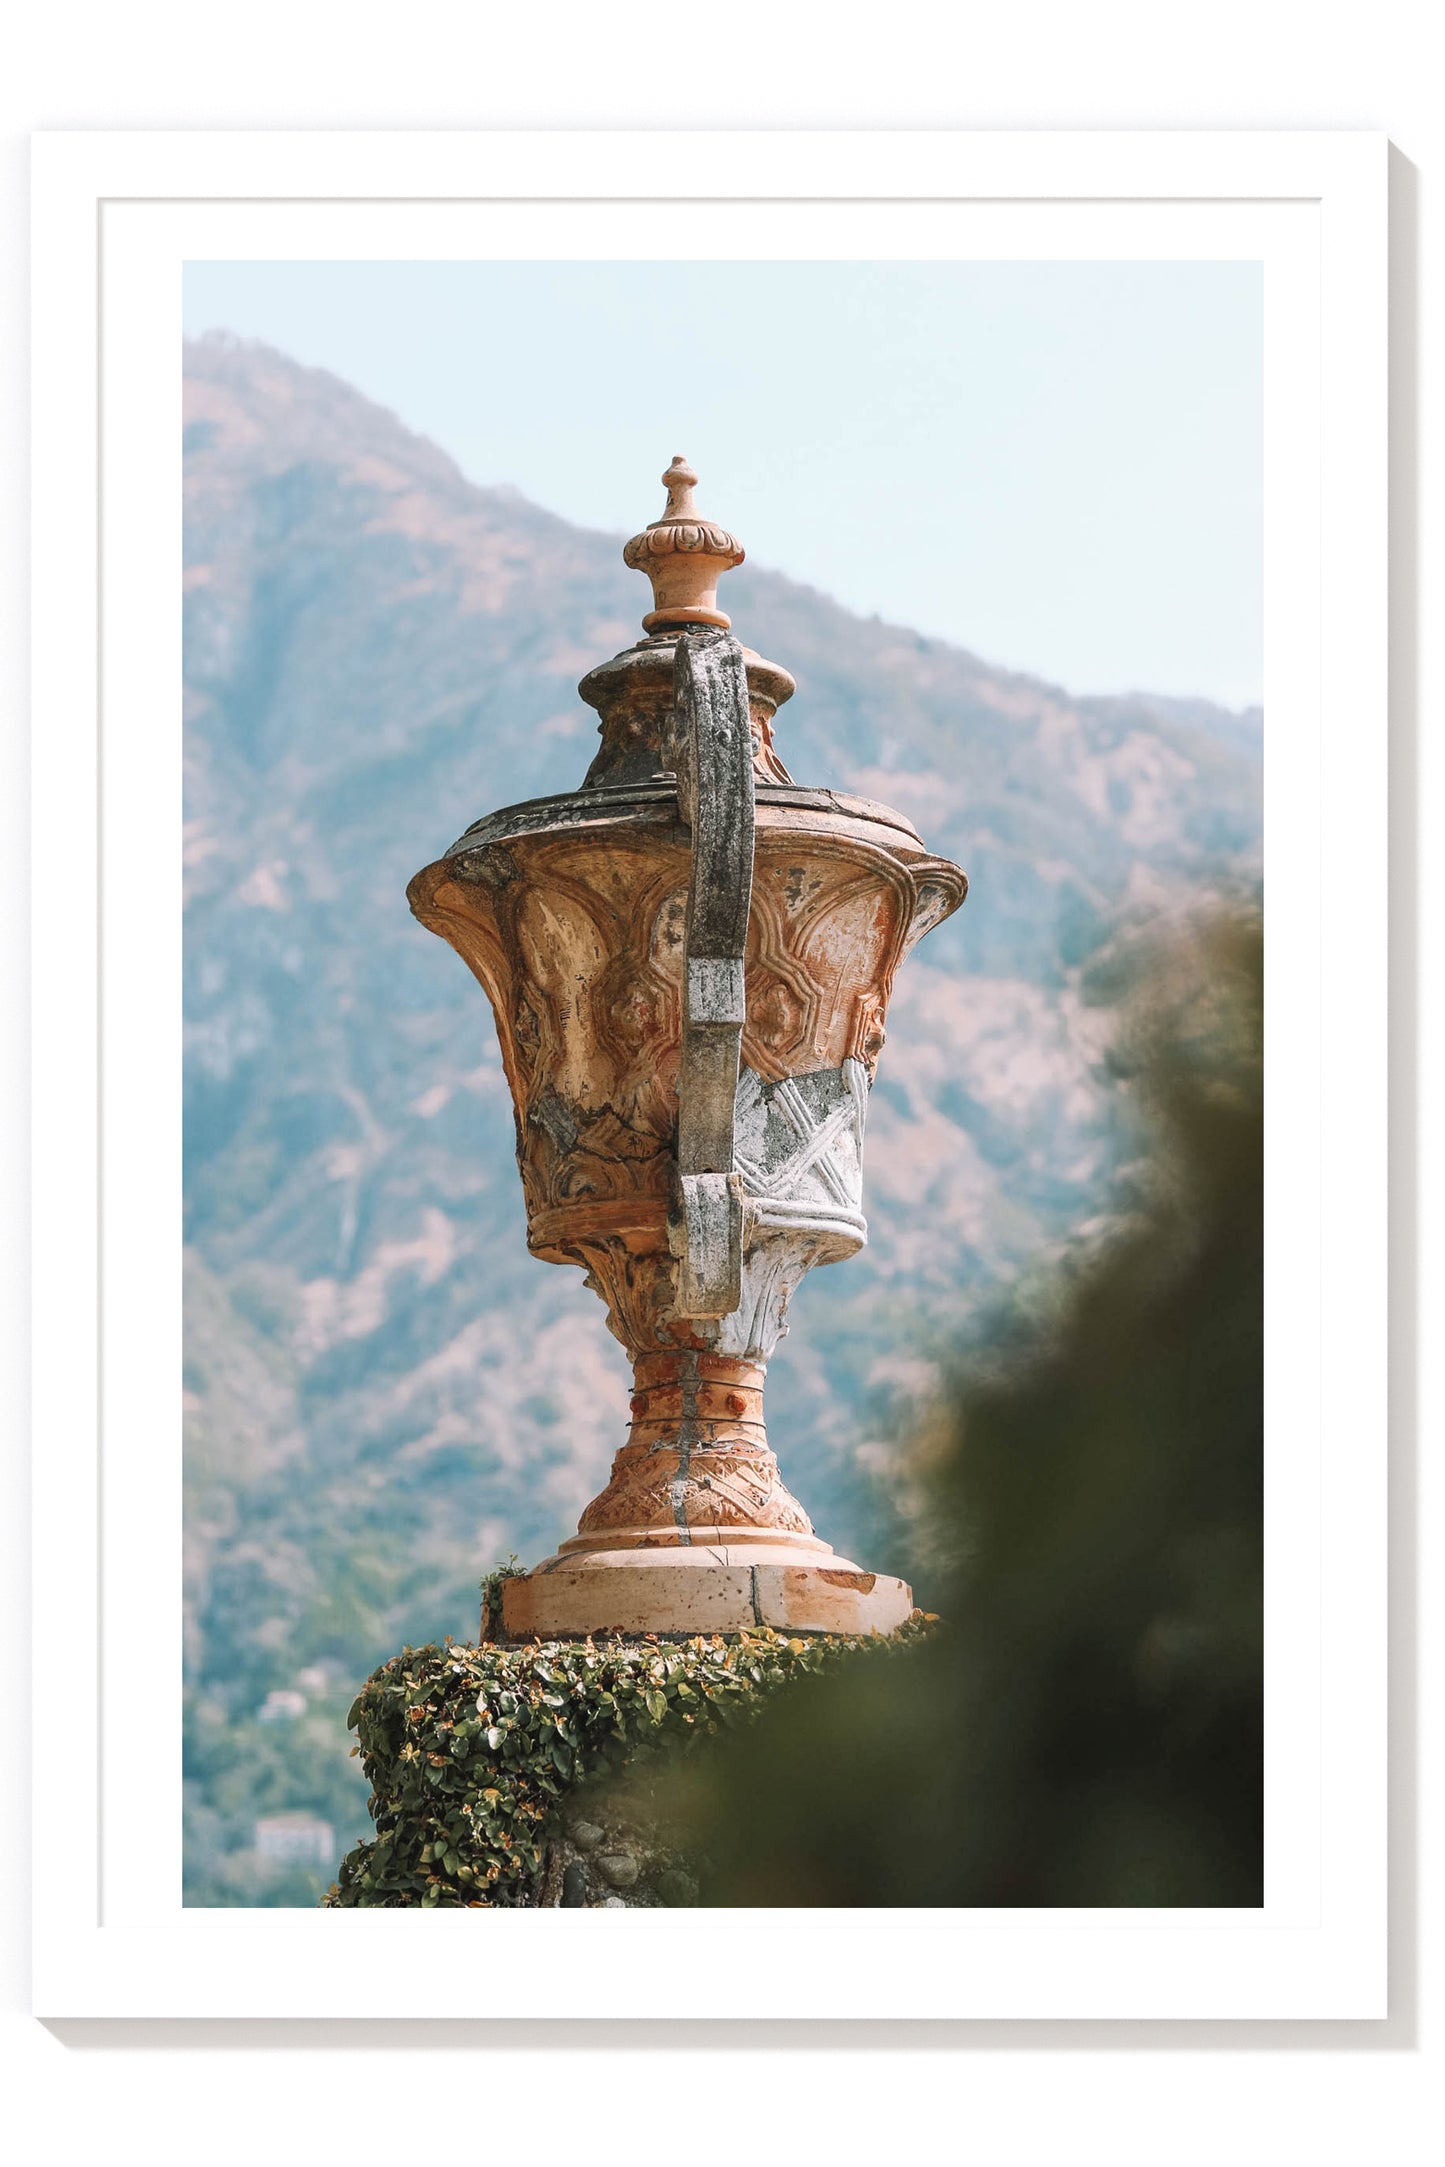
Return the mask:
MULTIPOLYGON (((687 453, 754 563, 1070 691, 1261 685, 1257 264, 206 262, 188 332, 347 377, 585 527, 687 453)), ((739 626, 745 633, 745 626, 739 626)))

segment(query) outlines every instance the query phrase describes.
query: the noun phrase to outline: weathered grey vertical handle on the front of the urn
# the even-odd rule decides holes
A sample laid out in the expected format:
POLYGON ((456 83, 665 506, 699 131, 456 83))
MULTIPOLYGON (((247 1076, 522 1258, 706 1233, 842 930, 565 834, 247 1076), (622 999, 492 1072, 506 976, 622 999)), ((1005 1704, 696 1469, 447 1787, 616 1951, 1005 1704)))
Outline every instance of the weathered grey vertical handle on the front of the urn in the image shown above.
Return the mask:
POLYGON ((693 834, 678 1070, 678 1309, 728 1318, 743 1298, 743 1181, 732 1116, 747 1016, 754 778, 743 650, 689 628, 674 661, 672 761, 693 834))

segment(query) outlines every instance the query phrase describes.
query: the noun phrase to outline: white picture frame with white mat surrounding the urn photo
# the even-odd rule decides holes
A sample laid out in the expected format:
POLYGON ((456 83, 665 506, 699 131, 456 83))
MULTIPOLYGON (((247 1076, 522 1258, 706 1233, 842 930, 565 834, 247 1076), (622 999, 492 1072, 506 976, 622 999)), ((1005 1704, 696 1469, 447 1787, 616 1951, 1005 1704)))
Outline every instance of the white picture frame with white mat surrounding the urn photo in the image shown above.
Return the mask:
POLYGON ((483 2015, 500 1961, 513 2017, 1382 2017, 1384 137, 50 134, 32 232, 35 2011, 483 2015), (1263 1909, 182 1909, 178 349, 225 254, 1263 262, 1263 1909))

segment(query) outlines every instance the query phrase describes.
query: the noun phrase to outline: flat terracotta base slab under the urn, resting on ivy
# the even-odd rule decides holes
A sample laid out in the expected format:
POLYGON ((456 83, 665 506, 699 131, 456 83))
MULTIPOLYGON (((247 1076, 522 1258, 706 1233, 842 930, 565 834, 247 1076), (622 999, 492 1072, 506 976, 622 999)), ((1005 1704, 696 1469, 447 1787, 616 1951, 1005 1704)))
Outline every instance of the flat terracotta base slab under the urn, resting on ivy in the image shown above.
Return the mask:
MULTIPOLYGON (((758 1545, 760 1547, 760 1545, 758 1545)), ((732 1549, 611 1549, 548 1558, 503 1580, 509 1640, 576 1640, 587 1634, 713 1634, 771 1625, 776 1632, 890 1634, 912 1617, 906 1580, 864 1573, 847 1558, 786 1562, 732 1549)))

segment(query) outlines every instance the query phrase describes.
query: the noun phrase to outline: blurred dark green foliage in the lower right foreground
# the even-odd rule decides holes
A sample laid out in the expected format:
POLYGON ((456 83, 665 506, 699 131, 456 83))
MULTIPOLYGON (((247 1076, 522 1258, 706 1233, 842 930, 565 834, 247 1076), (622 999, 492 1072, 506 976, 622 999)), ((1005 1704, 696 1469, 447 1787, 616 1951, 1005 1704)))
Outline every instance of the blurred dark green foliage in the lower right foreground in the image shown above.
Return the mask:
POLYGON ((1150 1136, 921 1450, 945 1630, 678 1770, 732 1905, 1263 1900, 1263 940, 1107 969, 1150 1136))

